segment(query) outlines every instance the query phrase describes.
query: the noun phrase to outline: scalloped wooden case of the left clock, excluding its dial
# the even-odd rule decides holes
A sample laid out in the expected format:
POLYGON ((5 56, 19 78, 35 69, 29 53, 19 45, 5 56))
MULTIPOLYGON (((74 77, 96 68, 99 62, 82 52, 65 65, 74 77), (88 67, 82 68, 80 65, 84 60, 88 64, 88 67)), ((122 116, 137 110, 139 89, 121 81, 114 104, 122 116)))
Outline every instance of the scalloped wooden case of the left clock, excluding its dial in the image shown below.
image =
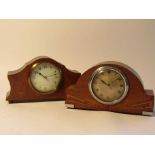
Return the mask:
POLYGON ((74 84, 80 75, 79 72, 68 70, 64 65, 49 57, 37 57, 26 63, 22 68, 8 72, 11 90, 8 92, 6 100, 9 103, 65 100, 66 88, 74 84), (32 66, 44 62, 54 64, 62 72, 60 85, 54 93, 39 93, 34 90, 30 83, 29 76, 32 66))

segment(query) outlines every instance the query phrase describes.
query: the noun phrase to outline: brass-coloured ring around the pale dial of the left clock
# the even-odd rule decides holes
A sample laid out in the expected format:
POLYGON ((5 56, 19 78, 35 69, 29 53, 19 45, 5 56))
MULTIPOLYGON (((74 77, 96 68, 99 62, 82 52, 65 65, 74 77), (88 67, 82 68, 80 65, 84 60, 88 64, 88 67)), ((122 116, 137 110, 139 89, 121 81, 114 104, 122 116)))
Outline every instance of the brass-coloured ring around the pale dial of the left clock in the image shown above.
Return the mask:
POLYGON ((28 82, 29 82, 30 87, 31 87, 34 91, 36 91, 36 92, 39 93, 39 94, 46 95, 46 94, 54 93, 54 92, 56 92, 56 91, 58 90, 59 85, 60 85, 60 83, 61 83, 61 81, 62 81, 62 71, 61 71, 60 68, 57 67, 57 69, 58 69, 58 71, 59 71, 61 77, 60 77, 60 81, 59 81, 59 84, 58 84, 58 86, 57 86, 56 89, 50 90, 50 91, 47 91, 47 92, 39 91, 38 89, 35 88, 35 86, 33 85, 32 81, 31 81, 31 74, 32 74, 32 71, 33 71, 38 65, 43 64, 43 63, 49 63, 49 64, 52 64, 52 65, 54 65, 55 67, 57 67, 55 64, 50 63, 50 62, 40 62, 40 63, 35 63, 35 64, 33 64, 32 67, 31 67, 31 69, 30 69, 28 82))

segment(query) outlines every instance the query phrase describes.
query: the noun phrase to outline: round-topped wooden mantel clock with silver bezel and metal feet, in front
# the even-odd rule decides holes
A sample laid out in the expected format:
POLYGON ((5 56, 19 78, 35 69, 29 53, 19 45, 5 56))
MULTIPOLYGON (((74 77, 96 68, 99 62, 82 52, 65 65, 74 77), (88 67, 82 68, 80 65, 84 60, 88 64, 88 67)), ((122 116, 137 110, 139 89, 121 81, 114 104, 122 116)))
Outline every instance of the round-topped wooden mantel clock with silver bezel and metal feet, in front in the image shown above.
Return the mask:
POLYGON ((105 62, 87 70, 68 87, 68 108, 152 115, 154 95, 125 64, 105 62))

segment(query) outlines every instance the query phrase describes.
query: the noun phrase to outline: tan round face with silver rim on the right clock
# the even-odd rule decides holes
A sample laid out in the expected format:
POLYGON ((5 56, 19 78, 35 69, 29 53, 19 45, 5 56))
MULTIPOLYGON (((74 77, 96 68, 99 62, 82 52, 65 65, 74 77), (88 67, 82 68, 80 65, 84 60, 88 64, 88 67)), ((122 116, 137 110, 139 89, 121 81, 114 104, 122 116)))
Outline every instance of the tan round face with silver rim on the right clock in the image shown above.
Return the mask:
POLYGON ((104 104, 116 104, 127 95, 128 81, 117 68, 100 67, 93 73, 89 89, 97 101, 104 104))

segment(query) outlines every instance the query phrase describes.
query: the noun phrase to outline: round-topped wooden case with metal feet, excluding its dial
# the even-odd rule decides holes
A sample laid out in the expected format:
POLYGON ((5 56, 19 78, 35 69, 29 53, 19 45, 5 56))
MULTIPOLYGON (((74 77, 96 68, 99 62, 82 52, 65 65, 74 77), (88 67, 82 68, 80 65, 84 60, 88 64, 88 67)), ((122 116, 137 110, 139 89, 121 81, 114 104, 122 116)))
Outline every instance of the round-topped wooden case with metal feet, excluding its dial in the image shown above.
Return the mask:
POLYGON ((144 90, 138 74, 122 63, 107 62, 96 65, 81 75, 76 84, 67 89, 66 106, 85 110, 104 110, 118 113, 152 115, 154 94, 152 90, 144 90), (95 100, 89 91, 89 82, 96 69, 102 66, 116 67, 127 77, 129 90, 127 96, 119 103, 107 105, 95 100))

